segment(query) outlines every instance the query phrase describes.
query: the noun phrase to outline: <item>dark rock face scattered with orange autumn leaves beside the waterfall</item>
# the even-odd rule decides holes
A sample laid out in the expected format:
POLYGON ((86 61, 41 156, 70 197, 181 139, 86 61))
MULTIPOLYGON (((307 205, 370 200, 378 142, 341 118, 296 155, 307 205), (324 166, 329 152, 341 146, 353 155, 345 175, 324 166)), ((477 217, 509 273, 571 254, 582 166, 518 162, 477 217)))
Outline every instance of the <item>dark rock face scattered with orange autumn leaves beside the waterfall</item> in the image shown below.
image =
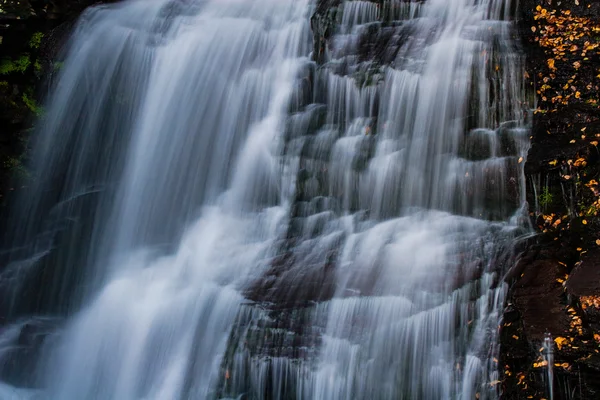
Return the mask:
POLYGON ((508 277, 503 397, 597 399, 600 3, 527 0, 520 8, 527 77, 538 104, 525 166, 537 235, 508 277))

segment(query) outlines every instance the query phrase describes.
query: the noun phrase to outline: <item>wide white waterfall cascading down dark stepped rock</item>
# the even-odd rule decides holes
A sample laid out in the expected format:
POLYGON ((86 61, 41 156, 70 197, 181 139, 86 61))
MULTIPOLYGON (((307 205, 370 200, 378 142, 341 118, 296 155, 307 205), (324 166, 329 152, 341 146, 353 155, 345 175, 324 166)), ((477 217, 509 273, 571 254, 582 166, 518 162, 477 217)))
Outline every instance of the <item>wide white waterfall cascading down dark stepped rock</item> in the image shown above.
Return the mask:
POLYGON ((0 280, 0 372, 43 333, 4 374, 33 394, 0 394, 497 397, 527 138, 509 0, 333 3, 319 66, 308 0, 81 18, 0 280))

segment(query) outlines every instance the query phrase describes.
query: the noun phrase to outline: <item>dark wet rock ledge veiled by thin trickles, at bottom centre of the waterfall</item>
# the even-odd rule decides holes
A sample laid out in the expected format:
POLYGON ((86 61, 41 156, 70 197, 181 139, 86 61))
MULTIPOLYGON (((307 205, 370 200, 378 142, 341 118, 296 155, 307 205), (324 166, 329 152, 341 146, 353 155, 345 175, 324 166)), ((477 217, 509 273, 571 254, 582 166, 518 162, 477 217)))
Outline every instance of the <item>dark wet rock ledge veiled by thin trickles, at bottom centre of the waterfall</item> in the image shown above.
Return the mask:
POLYGON ((326 318, 314 305, 270 308, 270 303, 250 304, 239 312, 221 365, 219 398, 300 397, 301 371, 317 362, 326 318), (248 374, 248 364, 260 373, 248 374), (309 365, 304 365, 309 364, 309 365), (285 381, 285 385, 274 385, 285 381))

